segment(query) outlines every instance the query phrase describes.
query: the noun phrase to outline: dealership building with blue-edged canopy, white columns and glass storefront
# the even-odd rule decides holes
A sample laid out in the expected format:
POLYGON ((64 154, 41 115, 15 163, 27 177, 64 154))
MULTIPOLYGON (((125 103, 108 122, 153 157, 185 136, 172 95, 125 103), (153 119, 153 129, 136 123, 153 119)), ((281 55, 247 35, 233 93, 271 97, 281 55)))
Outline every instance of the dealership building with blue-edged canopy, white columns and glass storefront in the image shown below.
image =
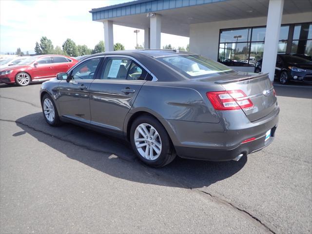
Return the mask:
POLYGON ((277 53, 312 56, 312 0, 136 0, 90 13, 103 23, 106 51, 117 24, 143 29, 146 49, 160 49, 161 33, 189 37, 191 52, 239 71, 263 58, 271 80, 277 53))

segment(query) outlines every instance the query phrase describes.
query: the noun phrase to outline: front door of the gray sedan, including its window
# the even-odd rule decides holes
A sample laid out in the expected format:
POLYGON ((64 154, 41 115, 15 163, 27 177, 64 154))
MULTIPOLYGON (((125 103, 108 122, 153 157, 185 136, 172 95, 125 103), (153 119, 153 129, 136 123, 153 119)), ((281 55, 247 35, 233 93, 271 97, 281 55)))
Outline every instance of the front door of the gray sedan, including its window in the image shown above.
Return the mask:
POLYGON ((70 71, 67 80, 59 82, 58 103, 61 117, 90 123, 89 88, 100 60, 101 58, 93 58, 78 64, 70 71))

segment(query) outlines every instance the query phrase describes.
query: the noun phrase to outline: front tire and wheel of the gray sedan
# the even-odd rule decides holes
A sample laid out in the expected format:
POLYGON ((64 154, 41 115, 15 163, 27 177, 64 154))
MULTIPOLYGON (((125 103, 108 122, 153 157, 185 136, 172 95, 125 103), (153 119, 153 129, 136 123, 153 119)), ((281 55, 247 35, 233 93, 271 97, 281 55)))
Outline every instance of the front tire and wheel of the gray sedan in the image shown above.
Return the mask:
POLYGON ((45 121, 53 127, 59 126, 61 121, 59 113, 50 95, 45 94, 41 99, 42 113, 45 121))

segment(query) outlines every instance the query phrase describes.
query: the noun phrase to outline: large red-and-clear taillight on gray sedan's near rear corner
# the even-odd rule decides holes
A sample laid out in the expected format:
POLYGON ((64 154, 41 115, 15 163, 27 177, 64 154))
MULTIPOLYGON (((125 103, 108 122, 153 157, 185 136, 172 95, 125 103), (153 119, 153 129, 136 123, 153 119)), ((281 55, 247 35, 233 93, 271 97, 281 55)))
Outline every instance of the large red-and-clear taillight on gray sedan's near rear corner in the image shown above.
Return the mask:
POLYGON ((215 110, 219 111, 239 110, 254 106, 253 102, 241 90, 208 92, 206 96, 215 110))

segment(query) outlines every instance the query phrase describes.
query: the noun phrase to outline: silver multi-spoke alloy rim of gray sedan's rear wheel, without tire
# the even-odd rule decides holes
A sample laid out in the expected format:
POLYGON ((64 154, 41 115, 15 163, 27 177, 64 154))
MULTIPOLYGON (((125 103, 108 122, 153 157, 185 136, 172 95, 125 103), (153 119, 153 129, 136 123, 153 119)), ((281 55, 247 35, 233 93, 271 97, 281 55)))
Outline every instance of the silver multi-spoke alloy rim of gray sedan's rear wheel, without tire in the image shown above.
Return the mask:
POLYGON ((134 134, 138 153, 147 160, 156 160, 161 153, 161 139, 157 130, 148 123, 137 126, 134 134))

